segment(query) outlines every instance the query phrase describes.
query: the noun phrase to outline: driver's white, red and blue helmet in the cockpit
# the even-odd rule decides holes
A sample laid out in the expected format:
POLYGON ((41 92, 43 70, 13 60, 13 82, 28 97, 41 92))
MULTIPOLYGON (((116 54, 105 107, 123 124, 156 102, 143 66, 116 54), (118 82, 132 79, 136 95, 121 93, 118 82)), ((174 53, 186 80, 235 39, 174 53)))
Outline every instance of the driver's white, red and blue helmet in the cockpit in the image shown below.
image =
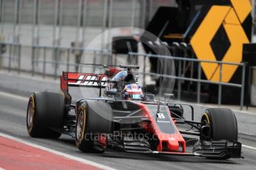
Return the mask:
POLYGON ((125 100, 140 100, 143 97, 142 88, 138 84, 127 84, 123 89, 125 100))

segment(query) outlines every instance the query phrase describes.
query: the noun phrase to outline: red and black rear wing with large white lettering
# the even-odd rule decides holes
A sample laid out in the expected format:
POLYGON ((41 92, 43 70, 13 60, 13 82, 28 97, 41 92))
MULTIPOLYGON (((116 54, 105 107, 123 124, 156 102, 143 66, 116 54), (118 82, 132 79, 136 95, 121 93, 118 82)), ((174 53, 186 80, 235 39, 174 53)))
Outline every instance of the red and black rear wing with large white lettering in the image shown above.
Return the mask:
POLYGON ((68 92, 68 86, 105 88, 107 86, 107 77, 105 74, 62 72, 60 88, 62 91, 68 92))

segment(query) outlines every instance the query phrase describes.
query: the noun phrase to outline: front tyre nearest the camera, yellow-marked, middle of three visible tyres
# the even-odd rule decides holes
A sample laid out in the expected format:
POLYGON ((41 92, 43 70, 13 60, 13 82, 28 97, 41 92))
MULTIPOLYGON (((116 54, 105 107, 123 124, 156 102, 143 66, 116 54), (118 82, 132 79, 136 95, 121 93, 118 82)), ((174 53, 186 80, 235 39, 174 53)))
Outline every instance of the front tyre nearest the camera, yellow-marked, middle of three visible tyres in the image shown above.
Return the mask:
POLYGON ((76 110, 76 146, 82 152, 105 152, 112 109, 103 101, 83 101, 76 110))

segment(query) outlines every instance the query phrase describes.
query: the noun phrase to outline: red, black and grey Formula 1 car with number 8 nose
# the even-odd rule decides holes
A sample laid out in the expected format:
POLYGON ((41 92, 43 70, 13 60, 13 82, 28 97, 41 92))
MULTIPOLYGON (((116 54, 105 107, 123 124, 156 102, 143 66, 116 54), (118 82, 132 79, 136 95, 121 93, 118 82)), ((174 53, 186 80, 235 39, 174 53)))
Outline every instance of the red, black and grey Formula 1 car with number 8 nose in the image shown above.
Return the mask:
MULTIPOLYGON (((241 157, 232 110, 206 109, 195 121, 193 106, 156 101, 153 94, 143 93, 132 71, 139 67, 102 67, 107 69, 102 74, 63 72, 61 93, 33 92, 27 106, 28 134, 47 138, 70 135, 82 152, 102 153, 112 148, 213 159, 241 157), (99 96, 72 103, 69 86, 99 88, 99 96), (191 109, 190 120, 184 118, 185 106, 191 109), (183 130, 180 125, 190 129, 183 130)), ((165 98, 171 96, 165 94, 165 98)))

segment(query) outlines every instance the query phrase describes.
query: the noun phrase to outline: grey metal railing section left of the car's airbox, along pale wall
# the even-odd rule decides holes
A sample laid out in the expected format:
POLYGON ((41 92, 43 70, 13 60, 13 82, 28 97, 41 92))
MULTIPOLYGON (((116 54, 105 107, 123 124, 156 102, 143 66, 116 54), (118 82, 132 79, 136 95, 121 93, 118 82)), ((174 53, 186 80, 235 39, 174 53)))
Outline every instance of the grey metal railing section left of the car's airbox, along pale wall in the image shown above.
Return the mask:
POLYGON ((42 75, 42 78, 59 78, 62 71, 78 72, 82 57, 86 57, 84 59, 90 63, 102 62, 105 58, 108 63, 111 56, 108 50, 101 49, 39 45, 30 47, 0 42, 0 49, 3 46, 5 52, 0 52, 0 69, 16 71, 18 74, 28 72, 31 75, 42 75))

